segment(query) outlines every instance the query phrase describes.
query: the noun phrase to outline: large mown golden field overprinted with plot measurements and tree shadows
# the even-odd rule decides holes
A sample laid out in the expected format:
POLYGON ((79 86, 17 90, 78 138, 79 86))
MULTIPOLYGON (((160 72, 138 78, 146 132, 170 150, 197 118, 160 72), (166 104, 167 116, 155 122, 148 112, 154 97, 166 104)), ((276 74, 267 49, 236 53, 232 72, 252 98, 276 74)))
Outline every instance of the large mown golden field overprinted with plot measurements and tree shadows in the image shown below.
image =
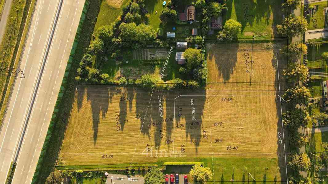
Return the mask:
MULTIPOLYGON (((224 54, 224 45, 208 46, 210 82, 248 82, 250 73, 245 72, 241 56, 244 49, 224 54), (235 64, 230 63, 234 61, 232 52, 236 52, 235 64), (229 76, 221 67, 231 69, 229 76)), ((275 153, 282 148, 277 132, 282 132, 273 52, 272 47, 253 51, 252 80, 270 83, 210 83, 202 91, 164 92, 112 85, 79 86, 60 164, 130 165, 174 155, 212 157, 212 153, 214 157, 265 153, 268 155, 256 157, 277 158, 275 153), (163 117, 159 106, 163 107, 163 117)))

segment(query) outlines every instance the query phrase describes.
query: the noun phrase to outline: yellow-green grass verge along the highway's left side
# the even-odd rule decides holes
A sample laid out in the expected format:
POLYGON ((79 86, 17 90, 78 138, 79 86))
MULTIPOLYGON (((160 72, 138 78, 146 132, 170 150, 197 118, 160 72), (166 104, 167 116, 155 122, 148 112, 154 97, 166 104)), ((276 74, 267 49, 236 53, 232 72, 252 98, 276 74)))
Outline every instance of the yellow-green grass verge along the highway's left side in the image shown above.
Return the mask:
MULTIPOLYGON (((0 53, 0 61, 2 61, 1 64, 3 66, 19 67, 21 54, 31 25, 35 1, 27 0, 24 3, 23 1, 14 0, 12 2, 13 4, 4 34, 7 36, 4 36, 0 45, 0 50, 3 51, 0 53), (12 17, 16 17, 16 19, 13 20, 12 17), (11 36, 9 37, 8 35, 11 36)), ((0 89, 2 90, 0 93, 0 127, 2 127, 2 122, 6 114, 14 81, 15 77, 7 75, 0 76, 0 89)))

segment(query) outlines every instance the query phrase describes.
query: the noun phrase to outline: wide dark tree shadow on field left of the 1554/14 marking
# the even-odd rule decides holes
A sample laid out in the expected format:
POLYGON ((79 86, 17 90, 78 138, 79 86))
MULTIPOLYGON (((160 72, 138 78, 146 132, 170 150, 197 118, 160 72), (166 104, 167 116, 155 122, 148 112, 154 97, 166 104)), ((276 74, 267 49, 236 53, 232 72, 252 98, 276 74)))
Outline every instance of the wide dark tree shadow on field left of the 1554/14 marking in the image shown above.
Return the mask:
MULTIPOLYGON (((223 78, 223 82, 228 82, 231 75, 236 69, 237 63, 237 52, 238 52, 238 43, 209 43, 208 49, 208 61, 215 61, 215 66, 218 74, 211 77, 211 80, 221 81, 220 78, 223 78)), ((213 82, 215 82, 213 81, 213 82)))

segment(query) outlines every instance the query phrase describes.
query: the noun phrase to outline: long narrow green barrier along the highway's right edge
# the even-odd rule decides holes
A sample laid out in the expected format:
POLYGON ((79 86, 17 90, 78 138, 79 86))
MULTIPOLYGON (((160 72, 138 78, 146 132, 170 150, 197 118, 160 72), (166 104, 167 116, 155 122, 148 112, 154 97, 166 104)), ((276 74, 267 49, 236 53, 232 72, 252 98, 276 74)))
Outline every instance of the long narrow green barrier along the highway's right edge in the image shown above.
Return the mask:
POLYGON ((48 148, 50 146, 49 145, 49 141, 50 141, 50 138, 51 138, 51 134, 52 134, 52 130, 53 130, 53 125, 57 121, 57 118, 56 117, 57 117, 57 113, 59 111, 58 108, 60 107, 60 104, 61 104, 61 101, 62 101, 62 97, 63 97, 63 93, 65 91, 65 84, 67 82, 67 77, 68 77, 69 71, 71 70, 71 66, 72 66, 72 62, 73 62, 73 59, 74 59, 76 47, 77 47, 78 41, 80 39, 81 30, 82 30, 82 26, 83 26, 83 23, 84 23, 84 20, 85 20, 85 16, 86 16, 88 7, 89 7, 89 1, 86 0, 85 1, 85 4, 84 4, 84 7, 83 7, 82 15, 81 15, 81 18, 80 18, 80 22, 79 22, 79 25, 78 25, 78 28, 77 28, 77 31, 76 31, 76 34, 75 34, 75 39, 74 39, 74 42, 73 42, 73 46, 72 46, 72 50, 71 50, 71 53, 70 53, 70 57, 69 57, 68 62, 67 62, 67 66, 66 66, 64 77, 63 77, 63 81, 62 81, 62 84, 60 86, 60 91, 58 93, 56 105, 55 105, 55 108, 54 108, 53 113, 52 113, 51 122, 50 122, 50 125, 49 125, 49 128, 48 128, 47 136, 46 136, 46 139, 45 139, 45 141, 43 143, 41 154, 40 154, 38 163, 36 165, 36 169, 35 169, 34 176, 33 176, 33 179, 32 179, 31 184, 37 183, 38 176, 40 174, 40 171, 42 170, 42 167, 41 166, 42 166, 43 161, 44 161, 44 156, 46 155, 46 152, 47 152, 47 150, 48 150, 48 148))

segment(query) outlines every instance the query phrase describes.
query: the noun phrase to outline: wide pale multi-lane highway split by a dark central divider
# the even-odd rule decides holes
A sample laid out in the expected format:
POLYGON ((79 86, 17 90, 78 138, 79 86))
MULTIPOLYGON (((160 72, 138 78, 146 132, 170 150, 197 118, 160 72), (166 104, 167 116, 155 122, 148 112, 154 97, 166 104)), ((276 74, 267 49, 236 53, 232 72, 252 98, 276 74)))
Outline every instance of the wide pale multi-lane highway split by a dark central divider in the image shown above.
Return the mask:
MULTIPOLYGON (((31 183, 50 124, 85 0, 64 0, 48 59, 36 94, 12 183, 31 183)), ((59 0, 37 0, 20 68, 0 134, 0 184, 5 183, 24 125, 28 107, 59 0)))

